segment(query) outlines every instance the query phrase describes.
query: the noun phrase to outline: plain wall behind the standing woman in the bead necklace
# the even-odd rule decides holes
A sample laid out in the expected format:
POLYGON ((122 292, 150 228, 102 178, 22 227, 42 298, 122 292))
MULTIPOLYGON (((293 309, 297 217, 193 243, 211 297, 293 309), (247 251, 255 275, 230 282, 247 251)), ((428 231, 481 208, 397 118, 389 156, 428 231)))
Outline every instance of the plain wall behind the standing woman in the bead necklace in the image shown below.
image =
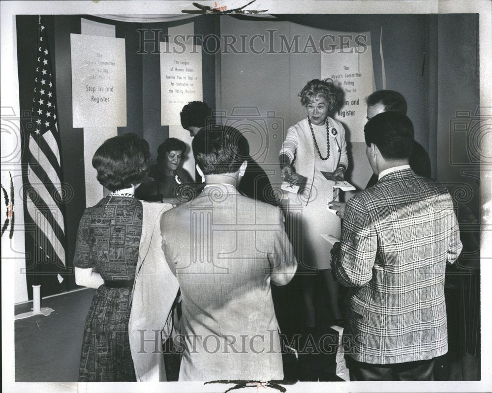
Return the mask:
MULTIPOLYGON (((427 19, 422 15, 315 15, 318 26, 312 28, 293 22, 238 20, 220 18, 221 35, 253 34, 268 37, 269 29, 285 34, 289 41, 295 34, 301 42, 311 35, 314 41, 332 31, 370 31, 376 89, 383 88, 381 60, 379 57, 380 33, 386 70, 386 88, 401 91, 408 102, 408 115, 415 127, 415 138, 429 149, 429 116, 426 97, 428 73, 422 75, 423 53, 427 48, 427 19)), ((257 41, 259 42, 259 41, 257 41)), ((261 45, 259 49, 263 48, 261 45)), ((320 54, 221 54, 221 110, 226 116, 234 108, 251 106, 261 116, 275 112, 283 123, 282 133, 269 130, 268 152, 264 160, 257 160, 270 174, 272 182, 279 183, 278 151, 287 128, 306 116, 297 94, 307 81, 325 77, 320 75, 320 54)), ((251 133, 246 133, 249 142, 259 142, 251 133)), ((358 188, 365 188, 371 170, 367 162, 364 142, 348 140, 350 172, 349 181, 358 188)), ((433 153, 431 153, 432 155, 433 153)))

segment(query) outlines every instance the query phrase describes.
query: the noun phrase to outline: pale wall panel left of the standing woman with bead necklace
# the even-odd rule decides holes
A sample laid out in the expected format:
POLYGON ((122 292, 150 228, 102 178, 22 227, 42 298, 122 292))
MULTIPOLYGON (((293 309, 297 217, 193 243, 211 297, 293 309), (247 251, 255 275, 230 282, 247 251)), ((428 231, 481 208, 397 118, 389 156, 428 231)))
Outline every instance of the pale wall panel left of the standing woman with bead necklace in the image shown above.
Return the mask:
MULTIPOLYGON (((278 34, 288 36, 290 23, 220 18, 221 35, 246 34, 252 37, 260 34, 267 37, 267 29, 276 29, 278 34)), ((266 47, 259 39, 253 43, 256 51, 266 47)), ((289 55, 247 52, 220 55, 220 109, 224 111, 227 123, 240 129, 248 139, 251 156, 270 175, 271 181, 278 183, 281 181, 279 175, 276 176, 278 151, 287 128, 292 124, 289 55)))

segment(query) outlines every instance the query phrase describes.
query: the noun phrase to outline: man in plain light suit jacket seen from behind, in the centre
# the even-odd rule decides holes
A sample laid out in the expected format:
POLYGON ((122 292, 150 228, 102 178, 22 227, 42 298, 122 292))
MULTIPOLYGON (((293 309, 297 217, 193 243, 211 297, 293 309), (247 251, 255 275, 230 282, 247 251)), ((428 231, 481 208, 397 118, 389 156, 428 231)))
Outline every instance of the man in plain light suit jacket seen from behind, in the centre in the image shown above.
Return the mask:
POLYGON ((162 249, 183 296, 180 381, 283 379, 271 283, 297 261, 280 208, 241 195, 247 140, 231 127, 200 130, 193 155, 202 193, 163 214, 162 249))

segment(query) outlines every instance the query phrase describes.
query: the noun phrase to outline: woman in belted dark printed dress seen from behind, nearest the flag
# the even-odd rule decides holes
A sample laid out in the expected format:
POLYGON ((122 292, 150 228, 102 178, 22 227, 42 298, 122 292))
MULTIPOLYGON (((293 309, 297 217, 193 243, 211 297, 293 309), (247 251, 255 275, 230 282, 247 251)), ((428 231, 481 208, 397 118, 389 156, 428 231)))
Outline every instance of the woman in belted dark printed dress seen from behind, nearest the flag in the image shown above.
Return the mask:
POLYGON ((149 159, 149 144, 136 134, 106 140, 92 158, 97 180, 112 193, 85 210, 77 233, 75 281, 97 289, 84 328, 80 382, 135 381, 128 319, 142 203, 134 191, 149 159))

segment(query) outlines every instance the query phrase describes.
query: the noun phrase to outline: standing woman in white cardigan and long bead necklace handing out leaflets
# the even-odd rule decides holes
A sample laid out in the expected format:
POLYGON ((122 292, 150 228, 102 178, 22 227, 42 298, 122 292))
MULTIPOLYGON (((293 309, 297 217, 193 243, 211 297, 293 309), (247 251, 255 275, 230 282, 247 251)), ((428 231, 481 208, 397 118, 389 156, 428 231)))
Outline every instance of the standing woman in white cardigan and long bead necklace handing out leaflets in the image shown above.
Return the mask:
MULTIPOLYGON (((330 244, 322 234, 340 238, 340 219, 326 209, 333 199, 330 183, 321 171, 331 172, 343 180, 348 167, 345 130, 341 123, 328 116, 337 101, 337 89, 331 79, 313 79, 299 93, 307 116, 287 130, 279 153, 280 175, 299 173, 307 178, 305 193, 287 193, 287 227, 303 271, 303 300, 307 331, 316 326, 314 273, 326 282, 329 309, 335 323, 343 324, 338 306, 338 288, 330 269, 330 244)), ((338 199, 337 199, 338 200, 338 199)))

